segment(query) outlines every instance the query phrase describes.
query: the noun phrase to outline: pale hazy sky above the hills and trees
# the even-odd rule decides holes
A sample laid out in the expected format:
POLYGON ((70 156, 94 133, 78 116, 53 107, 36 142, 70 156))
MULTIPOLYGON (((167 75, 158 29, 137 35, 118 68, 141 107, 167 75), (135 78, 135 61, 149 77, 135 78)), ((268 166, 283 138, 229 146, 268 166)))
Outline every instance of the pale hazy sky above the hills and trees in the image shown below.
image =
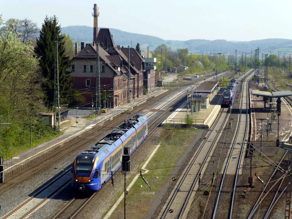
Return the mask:
POLYGON ((0 14, 4 20, 28 18, 39 27, 46 15, 56 15, 62 27, 93 27, 93 4, 100 12, 98 27, 166 40, 292 39, 291 0, 3 0, 0 14))

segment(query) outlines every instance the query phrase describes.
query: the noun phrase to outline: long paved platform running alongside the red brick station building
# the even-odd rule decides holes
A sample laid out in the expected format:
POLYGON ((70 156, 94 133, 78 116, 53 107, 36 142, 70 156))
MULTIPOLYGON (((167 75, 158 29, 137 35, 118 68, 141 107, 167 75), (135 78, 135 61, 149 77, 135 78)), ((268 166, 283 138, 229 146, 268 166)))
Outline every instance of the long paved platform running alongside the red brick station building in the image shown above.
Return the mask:
POLYGON ((68 113, 67 119, 60 123, 60 130, 63 134, 42 142, 39 145, 35 145, 34 147, 20 152, 11 158, 5 159, 3 162, 4 173, 7 174, 8 172, 17 169, 19 166, 23 166, 26 162, 29 162, 41 154, 54 150, 54 148, 58 147, 63 142, 66 142, 70 138, 77 137, 89 128, 102 124, 104 121, 115 117, 117 114, 133 109, 133 107, 139 106, 146 102, 147 99, 157 97, 167 91, 168 90, 156 89, 155 91, 143 95, 140 98, 131 100, 130 103, 125 103, 116 108, 109 109, 106 113, 96 115, 93 119, 85 118, 85 116, 88 116, 91 113, 91 109, 71 109, 71 112, 68 113))

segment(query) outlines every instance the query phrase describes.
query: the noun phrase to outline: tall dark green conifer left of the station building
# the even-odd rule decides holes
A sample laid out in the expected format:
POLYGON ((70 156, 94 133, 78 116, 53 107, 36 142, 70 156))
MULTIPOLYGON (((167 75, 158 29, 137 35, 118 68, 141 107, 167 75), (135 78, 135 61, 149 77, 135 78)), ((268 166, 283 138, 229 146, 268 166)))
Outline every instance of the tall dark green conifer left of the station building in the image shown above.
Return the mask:
POLYGON ((40 30, 39 39, 36 40, 34 52, 40 58, 41 74, 45 78, 43 83, 44 104, 50 108, 53 107, 54 102, 55 41, 58 41, 59 91, 62 104, 68 103, 68 98, 63 98, 63 96, 69 94, 73 82, 73 77, 69 76, 70 72, 67 71, 70 60, 65 55, 64 38, 65 35, 61 34, 61 26, 58 25, 57 17, 55 15, 50 18, 46 16, 40 30))

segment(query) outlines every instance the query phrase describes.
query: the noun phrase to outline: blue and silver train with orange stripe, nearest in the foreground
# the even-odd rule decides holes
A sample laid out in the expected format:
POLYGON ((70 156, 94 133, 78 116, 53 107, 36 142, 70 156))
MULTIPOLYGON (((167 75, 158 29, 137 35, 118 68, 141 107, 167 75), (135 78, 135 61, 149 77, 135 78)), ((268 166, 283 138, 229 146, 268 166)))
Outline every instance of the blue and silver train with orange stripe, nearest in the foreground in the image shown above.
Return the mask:
POLYGON ((123 148, 129 147, 132 154, 147 134, 147 117, 134 115, 96 142, 91 150, 79 154, 73 162, 72 188, 99 190, 121 166, 123 148))

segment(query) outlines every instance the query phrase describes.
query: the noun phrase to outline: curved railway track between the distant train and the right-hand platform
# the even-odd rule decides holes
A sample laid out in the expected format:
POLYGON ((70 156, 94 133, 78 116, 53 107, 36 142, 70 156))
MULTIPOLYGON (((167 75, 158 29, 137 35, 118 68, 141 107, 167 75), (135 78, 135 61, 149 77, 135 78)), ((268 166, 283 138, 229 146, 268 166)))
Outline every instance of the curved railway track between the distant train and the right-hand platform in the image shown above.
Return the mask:
MULTIPOLYGON (((248 77, 248 79, 249 78, 250 77, 248 77)), ((239 119, 237 120, 237 131, 232 139, 229 155, 225 160, 226 165, 225 168, 223 168, 212 218, 234 218, 232 217, 232 210, 234 208, 237 176, 241 174, 241 164, 245 152, 245 138, 249 130, 249 93, 247 81, 244 82, 243 88, 239 119)))

